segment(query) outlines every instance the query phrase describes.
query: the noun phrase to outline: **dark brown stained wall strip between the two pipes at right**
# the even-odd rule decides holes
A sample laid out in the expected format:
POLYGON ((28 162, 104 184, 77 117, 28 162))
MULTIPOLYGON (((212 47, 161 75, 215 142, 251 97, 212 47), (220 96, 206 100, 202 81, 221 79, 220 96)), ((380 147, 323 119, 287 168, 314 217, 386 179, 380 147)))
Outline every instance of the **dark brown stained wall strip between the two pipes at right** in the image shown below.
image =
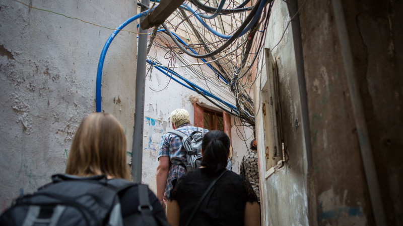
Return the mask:
POLYGON ((311 224, 365 225, 371 221, 369 196, 329 3, 306 4, 301 14, 315 197, 309 210, 316 217, 311 224))

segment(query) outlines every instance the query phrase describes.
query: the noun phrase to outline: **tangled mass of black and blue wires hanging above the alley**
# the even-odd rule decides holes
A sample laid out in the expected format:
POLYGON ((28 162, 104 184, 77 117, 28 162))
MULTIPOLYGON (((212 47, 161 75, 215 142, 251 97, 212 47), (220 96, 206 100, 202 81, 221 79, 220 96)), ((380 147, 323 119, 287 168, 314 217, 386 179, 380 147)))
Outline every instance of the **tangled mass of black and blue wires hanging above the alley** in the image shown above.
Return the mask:
MULTIPOLYGON (((153 7, 159 0, 154 0, 153 7)), ((152 45, 166 52, 170 65, 161 65, 147 56, 149 71, 156 68, 175 81, 194 90, 217 107, 239 118, 240 126, 254 127, 251 88, 259 77, 265 31, 274 0, 233 0, 183 3, 159 27, 154 27, 152 45), (186 39, 186 43, 177 34, 186 39), (193 61, 189 60, 193 58, 193 61), (194 58, 198 63, 194 63, 194 58), (207 65, 211 71, 201 70, 207 65), (181 67, 193 79, 175 72, 181 67), (197 81, 191 82, 190 80, 197 81)), ((142 6, 139 2, 138 6, 142 6)), ((148 8, 143 5, 144 8, 148 8)))

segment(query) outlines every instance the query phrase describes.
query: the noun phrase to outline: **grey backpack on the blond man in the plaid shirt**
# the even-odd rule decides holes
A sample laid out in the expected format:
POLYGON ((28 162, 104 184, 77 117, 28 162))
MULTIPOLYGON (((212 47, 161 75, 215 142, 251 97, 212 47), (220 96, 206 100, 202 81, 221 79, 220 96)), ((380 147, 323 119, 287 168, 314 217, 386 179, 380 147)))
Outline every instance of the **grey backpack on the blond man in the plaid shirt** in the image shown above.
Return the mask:
POLYGON ((205 129, 198 127, 196 131, 190 135, 186 135, 178 130, 169 131, 182 138, 182 146, 186 151, 185 168, 189 172, 201 166, 201 142, 205 136, 205 129))

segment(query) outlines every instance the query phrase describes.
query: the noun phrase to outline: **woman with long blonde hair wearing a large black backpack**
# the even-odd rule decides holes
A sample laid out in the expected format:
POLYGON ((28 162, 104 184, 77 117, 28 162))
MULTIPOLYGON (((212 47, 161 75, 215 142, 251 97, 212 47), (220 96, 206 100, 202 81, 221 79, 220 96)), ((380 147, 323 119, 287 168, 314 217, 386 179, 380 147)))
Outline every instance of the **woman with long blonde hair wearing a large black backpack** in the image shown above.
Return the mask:
POLYGON ((112 115, 84 118, 65 173, 19 197, 0 215, 0 225, 168 225, 155 194, 128 181, 126 137, 112 115))

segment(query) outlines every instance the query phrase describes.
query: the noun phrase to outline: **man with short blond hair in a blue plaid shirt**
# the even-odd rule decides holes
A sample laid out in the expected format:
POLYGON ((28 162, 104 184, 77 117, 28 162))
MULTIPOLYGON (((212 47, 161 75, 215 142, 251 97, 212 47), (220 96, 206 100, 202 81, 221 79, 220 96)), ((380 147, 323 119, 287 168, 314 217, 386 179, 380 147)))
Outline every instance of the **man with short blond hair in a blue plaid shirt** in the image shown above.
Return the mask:
MULTIPOLYGON (((190 125, 189 112, 185 109, 175 109, 169 118, 172 128, 186 135, 197 131, 190 125)), ((205 133, 209 132, 205 129, 205 133)), ((164 199, 169 198, 171 189, 176 181, 186 173, 186 151, 182 148, 182 138, 175 134, 162 135, 158 152, 158 167, 156 173, 157 198, 165 209, 164 199)))

